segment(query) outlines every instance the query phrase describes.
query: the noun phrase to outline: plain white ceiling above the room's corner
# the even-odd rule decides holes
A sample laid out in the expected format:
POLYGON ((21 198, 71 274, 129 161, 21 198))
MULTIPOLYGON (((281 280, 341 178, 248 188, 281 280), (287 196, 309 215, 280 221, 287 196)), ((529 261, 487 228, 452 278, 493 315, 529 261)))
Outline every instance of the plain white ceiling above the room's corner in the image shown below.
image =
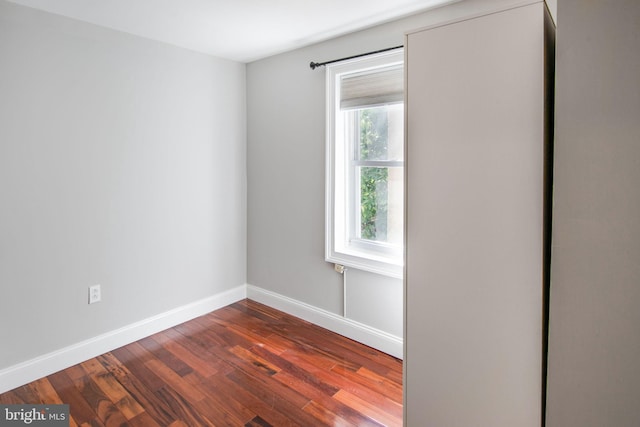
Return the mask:
POLYGON ((451 0, 9 0, 250 62, 451 0))

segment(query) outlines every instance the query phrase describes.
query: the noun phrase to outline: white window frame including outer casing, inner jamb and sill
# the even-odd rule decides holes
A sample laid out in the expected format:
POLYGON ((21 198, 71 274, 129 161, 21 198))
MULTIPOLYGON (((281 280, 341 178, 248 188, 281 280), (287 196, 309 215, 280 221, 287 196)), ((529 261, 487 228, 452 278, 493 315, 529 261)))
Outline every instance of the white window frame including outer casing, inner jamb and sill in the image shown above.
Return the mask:
MULTIPOLYGON (((328 262, 370 271, 385 276, 401 278, 403 274, 403 247, 392 248, 376 242, 351 241, 350 222, 354 222, 354 210, 349 204, 357 203, 348 144, 345 137, 337 135, 343 129, 340 113, 340 79, 345 74, 375 71, 404 64, 404 50, 370 55, 363 58, 332 64, 326 70, 326 224, 325 259, 328 262)), ((397 162, 389 162, 397 163, 397 162)), ((404 240, 404 239, 403 239, 404 240)))

